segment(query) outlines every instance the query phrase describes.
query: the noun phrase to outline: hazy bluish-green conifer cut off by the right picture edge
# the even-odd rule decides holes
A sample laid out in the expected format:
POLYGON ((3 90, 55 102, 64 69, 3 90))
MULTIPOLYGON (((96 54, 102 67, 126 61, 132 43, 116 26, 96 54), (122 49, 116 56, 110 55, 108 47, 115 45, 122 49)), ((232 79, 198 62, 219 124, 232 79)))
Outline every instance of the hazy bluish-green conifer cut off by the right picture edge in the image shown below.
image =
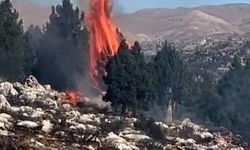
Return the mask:
POLYGON ((222 97, 219 103, 218 117, 214 122, 241 133, 250 138, 250 69, 242 66, 235 57, 230 71, 218 84, 218 93, 222 97))

